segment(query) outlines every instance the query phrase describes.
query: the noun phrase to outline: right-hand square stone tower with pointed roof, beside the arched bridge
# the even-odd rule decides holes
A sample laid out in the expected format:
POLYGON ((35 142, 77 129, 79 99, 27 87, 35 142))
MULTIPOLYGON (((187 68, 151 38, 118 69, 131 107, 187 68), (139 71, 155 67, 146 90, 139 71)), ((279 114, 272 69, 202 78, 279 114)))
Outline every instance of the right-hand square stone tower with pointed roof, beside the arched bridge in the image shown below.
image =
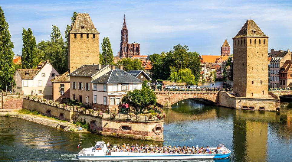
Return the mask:
POLYGON ((233 38, 233 90, 240 97, 268 98, 268 37, 248 20, 233 38))

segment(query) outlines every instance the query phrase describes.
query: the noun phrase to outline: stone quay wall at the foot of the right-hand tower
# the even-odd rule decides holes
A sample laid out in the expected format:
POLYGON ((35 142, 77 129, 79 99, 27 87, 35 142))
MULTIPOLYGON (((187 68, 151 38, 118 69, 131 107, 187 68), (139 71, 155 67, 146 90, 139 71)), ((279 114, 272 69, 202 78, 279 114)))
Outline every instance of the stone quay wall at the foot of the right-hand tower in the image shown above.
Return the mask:
POLYGON ((223 91, 219 91, 218 97, 218 105, 224 107, 234 109, 280 111, 279 97, 277 97, 277 99, 244 98, 231 96, 227 92, 223 91))

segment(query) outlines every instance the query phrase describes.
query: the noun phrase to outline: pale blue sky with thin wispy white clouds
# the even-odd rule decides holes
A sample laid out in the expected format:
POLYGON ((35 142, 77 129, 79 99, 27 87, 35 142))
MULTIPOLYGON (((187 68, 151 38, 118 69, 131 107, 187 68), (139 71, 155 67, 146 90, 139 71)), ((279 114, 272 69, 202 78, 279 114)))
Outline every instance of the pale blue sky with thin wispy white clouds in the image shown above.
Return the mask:
POLYGON ((254 20, 269 37, 269 50, 292 48, 291 1, 2 0, 0 6, 15 55, 21 54, 22 28, 31 28, 37 43, 50 40, 52 25, 60 29, 64 38, 74 11, 90 15, 100 33, 100 44, 109 37, 114 56, 120 50, 124 15, 129 43, 138 42, 141 55, 168 52, 176 44, 185 44, 189 51, 202 55, 220 55, 225 38, 233 53, 232 38, 248 19, 254 20))

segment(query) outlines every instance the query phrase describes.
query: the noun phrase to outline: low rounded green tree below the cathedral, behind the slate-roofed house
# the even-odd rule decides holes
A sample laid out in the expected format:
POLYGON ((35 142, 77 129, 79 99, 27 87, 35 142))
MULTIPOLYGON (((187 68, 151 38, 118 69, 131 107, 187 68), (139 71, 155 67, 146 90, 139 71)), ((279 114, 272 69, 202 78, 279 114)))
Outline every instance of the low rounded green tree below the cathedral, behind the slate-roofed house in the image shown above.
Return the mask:
POLYGON ((130 71, 130 70, 143 70, 142 62, 138 59, 131 59, 129 57, 123 58, 122 60, 118 61, 116 65, 122 65, 123 70, 130 71))

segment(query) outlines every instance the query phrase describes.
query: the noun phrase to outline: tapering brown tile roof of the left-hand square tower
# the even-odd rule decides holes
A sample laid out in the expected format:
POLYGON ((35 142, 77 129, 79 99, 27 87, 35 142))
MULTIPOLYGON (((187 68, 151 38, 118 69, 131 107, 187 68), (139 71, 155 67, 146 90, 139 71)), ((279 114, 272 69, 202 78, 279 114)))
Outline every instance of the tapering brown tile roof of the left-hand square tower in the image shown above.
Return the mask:
POLYGON ((99 34, 99 32, 94 27, 89 14, 78 13, 72 29, 69 33, 80 33, 80 34, 99 34))

